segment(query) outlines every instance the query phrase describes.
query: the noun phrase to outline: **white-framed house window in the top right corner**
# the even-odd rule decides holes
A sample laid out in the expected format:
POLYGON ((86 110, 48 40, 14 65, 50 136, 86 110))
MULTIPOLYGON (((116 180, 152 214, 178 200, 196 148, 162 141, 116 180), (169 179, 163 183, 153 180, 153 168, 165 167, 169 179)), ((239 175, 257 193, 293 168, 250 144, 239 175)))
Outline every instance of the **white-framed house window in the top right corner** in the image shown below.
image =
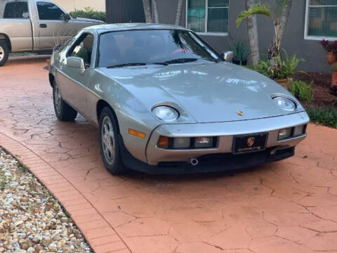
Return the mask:
POLYGON ((306 36, 337 37, 336 0, 307 0, 306 36))

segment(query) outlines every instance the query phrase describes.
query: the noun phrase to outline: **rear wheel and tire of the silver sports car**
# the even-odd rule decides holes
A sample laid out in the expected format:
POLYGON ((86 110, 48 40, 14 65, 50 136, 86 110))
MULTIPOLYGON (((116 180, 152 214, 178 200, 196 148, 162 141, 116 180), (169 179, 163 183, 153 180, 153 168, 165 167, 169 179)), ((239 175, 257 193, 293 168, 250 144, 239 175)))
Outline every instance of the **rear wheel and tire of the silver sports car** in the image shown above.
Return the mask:
POLYGON ((53 82, 53 103, 55 115, 60 121, 70 122, 76 119, 77 111, 62 99, 58 84, 55 81, 53 82))

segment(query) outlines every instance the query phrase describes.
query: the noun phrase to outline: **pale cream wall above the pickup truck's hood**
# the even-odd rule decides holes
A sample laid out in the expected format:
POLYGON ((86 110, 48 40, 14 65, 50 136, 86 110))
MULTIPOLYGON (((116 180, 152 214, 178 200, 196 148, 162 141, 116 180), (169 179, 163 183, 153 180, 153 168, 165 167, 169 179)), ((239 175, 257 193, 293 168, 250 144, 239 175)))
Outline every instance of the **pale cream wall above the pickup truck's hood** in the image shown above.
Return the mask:
MULTIPOLYGON (((1 1, 1 0, 0 0, 1 1)), ((84 10, 91 7, 95 11, 105 11, 105 0, 53 0, 55 3, 65 8, 66 11, 84 10)))

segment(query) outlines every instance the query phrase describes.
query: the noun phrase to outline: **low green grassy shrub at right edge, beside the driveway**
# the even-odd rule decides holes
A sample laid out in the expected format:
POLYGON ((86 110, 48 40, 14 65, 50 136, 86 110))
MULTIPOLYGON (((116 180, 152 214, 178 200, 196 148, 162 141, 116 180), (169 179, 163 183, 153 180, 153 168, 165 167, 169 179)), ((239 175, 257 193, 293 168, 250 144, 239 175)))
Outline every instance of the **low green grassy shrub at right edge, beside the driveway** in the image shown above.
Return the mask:
POLYGON ((307 112, 312 122, 337 129, 336 108, 317 108, 315 106, 310 106, 307 108, 307 112))

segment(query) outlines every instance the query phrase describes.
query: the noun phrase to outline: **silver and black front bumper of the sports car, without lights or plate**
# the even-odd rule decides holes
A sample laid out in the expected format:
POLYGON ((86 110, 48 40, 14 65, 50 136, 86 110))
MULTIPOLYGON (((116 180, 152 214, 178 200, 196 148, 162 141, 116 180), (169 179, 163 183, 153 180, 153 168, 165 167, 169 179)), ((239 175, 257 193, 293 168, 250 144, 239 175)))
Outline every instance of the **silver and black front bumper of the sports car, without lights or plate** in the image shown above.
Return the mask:
POLYGON ((278 141, 279 129, 308 124, 306 112, 282 117, 254 119, 242 122, 209 124, 166 124, 154 129, 147 143, 147 161, 140 161, 128 152, 120 136, 121 154, 126 167, 148 174, 194 174, 232 171, 254 167, 259 164, 284 160, 294 155, 295 146, 307 136, 278 141), (266 149, 256 153, 233 155, 234 136, 268 133, 266 149), (217 148, 199 150, 165 150, 157 147, 159 136, 196 137, 220 136, 217 148), (192 166, 190 160, 197 158, 199 164, 192 166))

